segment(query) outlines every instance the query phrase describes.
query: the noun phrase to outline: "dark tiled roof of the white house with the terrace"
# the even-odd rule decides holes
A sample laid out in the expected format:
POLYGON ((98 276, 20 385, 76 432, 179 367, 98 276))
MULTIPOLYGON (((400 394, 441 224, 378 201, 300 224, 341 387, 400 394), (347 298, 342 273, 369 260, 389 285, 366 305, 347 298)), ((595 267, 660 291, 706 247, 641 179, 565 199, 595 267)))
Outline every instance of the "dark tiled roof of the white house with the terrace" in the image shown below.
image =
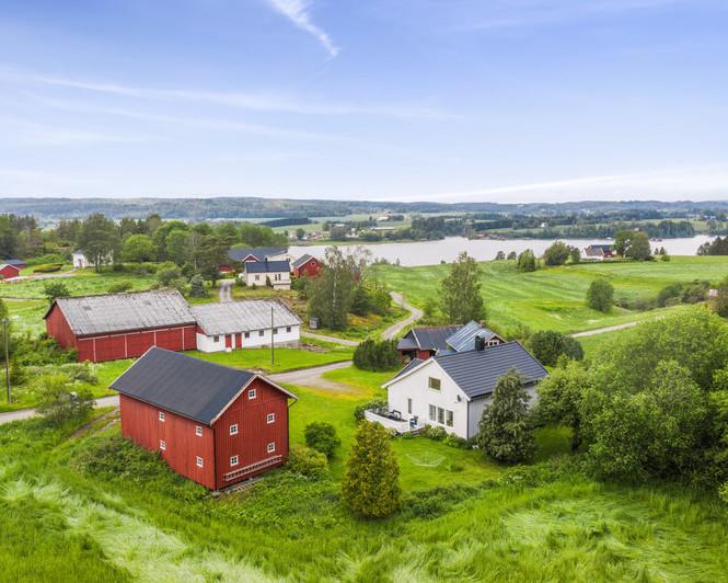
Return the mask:
POLYGON ((434 359, 471 399, 489 395, 498 379, 515 368, 530 385, 545 378, 546 369, 519 342, 507 342, 483 351, 434 356, 434 359))

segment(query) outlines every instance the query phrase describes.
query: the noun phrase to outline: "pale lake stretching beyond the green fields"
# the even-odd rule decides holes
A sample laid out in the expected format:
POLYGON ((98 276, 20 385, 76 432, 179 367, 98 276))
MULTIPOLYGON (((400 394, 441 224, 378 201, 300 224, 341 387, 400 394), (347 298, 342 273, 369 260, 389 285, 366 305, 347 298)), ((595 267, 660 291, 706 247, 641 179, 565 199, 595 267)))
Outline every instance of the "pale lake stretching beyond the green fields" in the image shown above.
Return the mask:
MULTIPOLYGON (((662 241, 651 241, 652 248, 663 247, 670 255, 694 255, 697 248, 703 243, 713 240, 713 237, 698 235, 696 237, 684 237, 680 239, 663 239, 662 241)), ((489 261, 496 259, 498 251, 506 255, 516 251, 520 253, 527 249, 532 249, 536 255, 543 254, 548 245, 555 239, 508 239, 506 241, 496 241, 493 239, 465 239, 464 237, 448 237, 440 241, 415 241, 412 243, 377 243, 377 244, 344 244, 338 245, 346 249, 363 247, 369 249, 373 259, 385 259, 390 263, 397 260, 402 265, 413 267, 416 265, 437 265, 441 261, 451 262, 458 258, 462 251, 478 261, 489 261)), ((567 244, 583 249, 590 244, 611 244, 609 239, 562 239, 567 244)), ((290 253, 299 258, 309 253, 314 258, 322 259, 326 248, 324 245, 297 245, 290 248, 290 253)))

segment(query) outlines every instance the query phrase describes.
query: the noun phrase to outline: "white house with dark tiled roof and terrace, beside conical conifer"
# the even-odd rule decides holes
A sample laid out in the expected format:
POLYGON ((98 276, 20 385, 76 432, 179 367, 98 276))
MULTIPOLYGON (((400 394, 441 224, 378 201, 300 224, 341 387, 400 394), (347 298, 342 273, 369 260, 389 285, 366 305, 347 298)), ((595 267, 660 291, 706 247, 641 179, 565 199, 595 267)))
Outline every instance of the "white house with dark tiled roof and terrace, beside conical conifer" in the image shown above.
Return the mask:
POLYGON ((523 378, 531 396, 529 404, 533 404, 535 386, 546 376, 546 369, 518 342, 485 346, 481 341, 467 352, 412 361, 383 385, 389 418, 368 412, 367 419, 397 431, 435 425, 469 439, 477 435, 483 409, 498 379, 511 368, 523 378))

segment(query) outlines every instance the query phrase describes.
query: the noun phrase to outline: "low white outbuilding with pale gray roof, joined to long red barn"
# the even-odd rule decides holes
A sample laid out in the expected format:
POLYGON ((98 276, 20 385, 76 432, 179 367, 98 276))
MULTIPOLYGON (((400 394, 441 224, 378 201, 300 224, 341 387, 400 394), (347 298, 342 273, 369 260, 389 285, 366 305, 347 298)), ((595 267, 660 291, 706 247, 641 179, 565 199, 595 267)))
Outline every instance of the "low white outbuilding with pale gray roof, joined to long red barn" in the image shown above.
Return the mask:
POLYGON ((245 300, 190 306, 197 320, 197 350, 298 346, 301 320, 279 301, 245 300))

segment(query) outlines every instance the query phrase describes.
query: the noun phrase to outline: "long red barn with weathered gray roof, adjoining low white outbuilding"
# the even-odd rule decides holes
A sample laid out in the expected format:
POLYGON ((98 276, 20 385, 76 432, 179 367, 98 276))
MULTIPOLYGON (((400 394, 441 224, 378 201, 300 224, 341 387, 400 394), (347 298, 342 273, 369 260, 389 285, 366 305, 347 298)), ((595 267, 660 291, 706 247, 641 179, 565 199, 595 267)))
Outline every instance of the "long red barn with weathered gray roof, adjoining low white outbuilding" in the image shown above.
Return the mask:
POLYGON ((197 347, 195 316, 176 290, 58 298, 45 315, 48 335, 79 361, 141 356, 151 346, 197 347))

